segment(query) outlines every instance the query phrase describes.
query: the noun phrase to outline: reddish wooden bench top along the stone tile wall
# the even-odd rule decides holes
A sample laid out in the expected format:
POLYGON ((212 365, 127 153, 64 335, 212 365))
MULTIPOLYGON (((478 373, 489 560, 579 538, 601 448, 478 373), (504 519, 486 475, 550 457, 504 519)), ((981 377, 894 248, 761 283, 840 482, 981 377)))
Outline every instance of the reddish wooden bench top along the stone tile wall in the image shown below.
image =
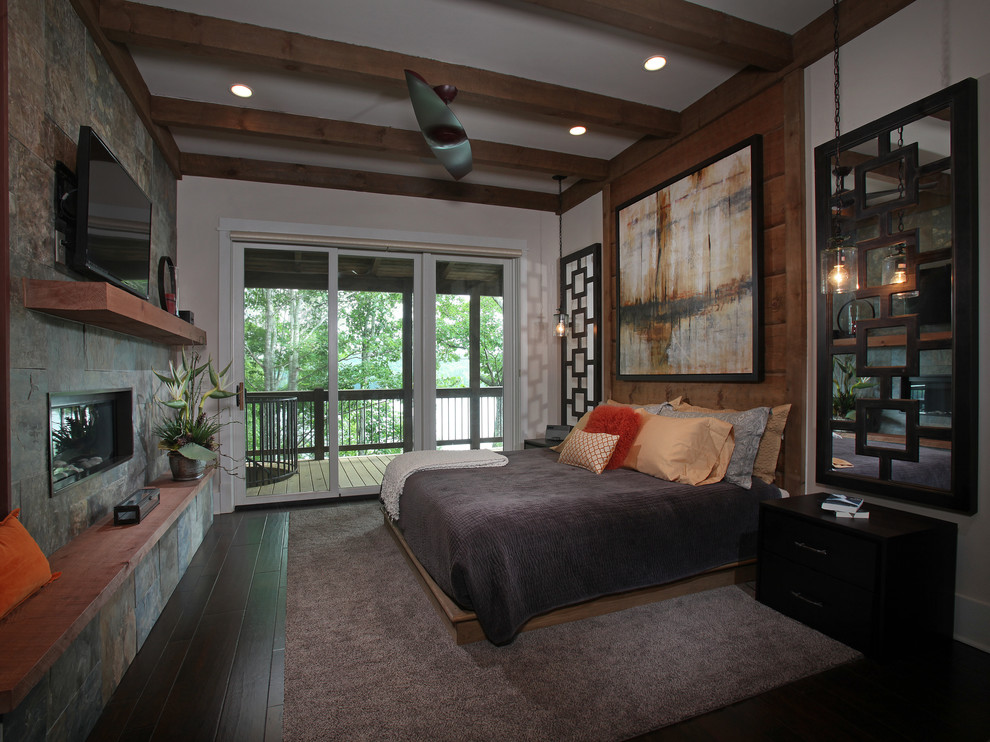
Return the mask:
POLYGON ((111 514, 49 557, 62 576, 0 620, 0 714, 44 678, 212 477, 153 482, 161 502, 140 523, 114 526, 111 514))

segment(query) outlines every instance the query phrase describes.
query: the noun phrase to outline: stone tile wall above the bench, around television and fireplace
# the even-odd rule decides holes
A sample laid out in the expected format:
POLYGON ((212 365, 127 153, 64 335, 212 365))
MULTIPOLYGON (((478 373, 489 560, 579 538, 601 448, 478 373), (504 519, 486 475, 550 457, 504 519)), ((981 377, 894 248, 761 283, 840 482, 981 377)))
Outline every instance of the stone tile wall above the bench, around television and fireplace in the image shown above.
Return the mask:
POLYGON ((151 197, 152 296, 157 264, 175 258, 176 181, 69 0, 8 0, 10 65, 11 448, 13 506, 48 554, 167 471, 151 435, 152 368, 173 351, 23 307, 22 278, 85 280, 64 265, 53 227, 56 161, 75 168, 79 127, 92 126, 151 197), (49 392, 134 389, 134 457, 50 495, 49 392))

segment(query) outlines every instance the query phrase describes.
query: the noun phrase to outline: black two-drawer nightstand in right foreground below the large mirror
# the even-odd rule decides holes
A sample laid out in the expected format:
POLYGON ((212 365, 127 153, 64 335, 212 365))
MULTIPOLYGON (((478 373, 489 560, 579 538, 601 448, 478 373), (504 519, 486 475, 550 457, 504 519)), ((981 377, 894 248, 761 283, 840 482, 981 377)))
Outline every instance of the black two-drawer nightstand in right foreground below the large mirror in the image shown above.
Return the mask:
POLYGON ((951 637, 956 525, 869 503, 838 518, 822 499, 761 503, 757 599, 880 657, 951 637))

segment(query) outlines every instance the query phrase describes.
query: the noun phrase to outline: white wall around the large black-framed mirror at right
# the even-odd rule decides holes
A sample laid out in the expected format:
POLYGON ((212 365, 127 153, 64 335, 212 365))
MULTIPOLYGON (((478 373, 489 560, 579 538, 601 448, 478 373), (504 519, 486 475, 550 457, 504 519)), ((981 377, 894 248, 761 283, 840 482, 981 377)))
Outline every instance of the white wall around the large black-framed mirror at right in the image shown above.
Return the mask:
MULTIPOLYGON (((990 3, 986 0, 917 0, 887 21, 840 50, 842 132, 924 98, 967 77, 980 80, 980 232, 981 284, 990 285, 990 3), (981 79, 982 78, 982 79, 981 79)), ((805 72, 806 163, 808 172, 809 275, 814 269, 814 214, 811 208, 814 148, 834 136, 832 57, 805 72)), ((815 332, 814 304, 809 304, 809 336, 815 332)), ((979 308, 981 378, 990 361, 990 301, 979 308)), ((808 378, 815 378, 814 358, 808 378)), ((809 388, 807 409, 815 405, 809 388)), ((959 526, 956 574, 956 638, 990 651, 990 393, 981 389, 979 400, 979 512, 957 516, 941 511, 897 505, 959 526)), ((814 441, 814 415, 808 416, 807 440, 814 441)), ((813 476, 814 450, 807 452, 807 471, 813 476)), ((812 485, 814 489, 822 489, 812 485)), ((867 498, 869 499, 869 498, 867 498)), ((884 500, 885 505, 891 501, 884 500)))

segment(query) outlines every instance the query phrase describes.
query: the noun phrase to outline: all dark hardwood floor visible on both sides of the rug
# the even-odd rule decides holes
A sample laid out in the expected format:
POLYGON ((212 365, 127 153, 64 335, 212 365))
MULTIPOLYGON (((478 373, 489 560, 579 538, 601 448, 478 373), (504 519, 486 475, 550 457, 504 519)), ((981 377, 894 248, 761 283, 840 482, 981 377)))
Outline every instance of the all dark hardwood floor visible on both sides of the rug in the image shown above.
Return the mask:
MULTIPOLYGON (((281 740, 287 533, 284 509, 215 518, 91 742, 281 740)), ((990 654, 864 659, 637 740, 986 742, 990 654)))

